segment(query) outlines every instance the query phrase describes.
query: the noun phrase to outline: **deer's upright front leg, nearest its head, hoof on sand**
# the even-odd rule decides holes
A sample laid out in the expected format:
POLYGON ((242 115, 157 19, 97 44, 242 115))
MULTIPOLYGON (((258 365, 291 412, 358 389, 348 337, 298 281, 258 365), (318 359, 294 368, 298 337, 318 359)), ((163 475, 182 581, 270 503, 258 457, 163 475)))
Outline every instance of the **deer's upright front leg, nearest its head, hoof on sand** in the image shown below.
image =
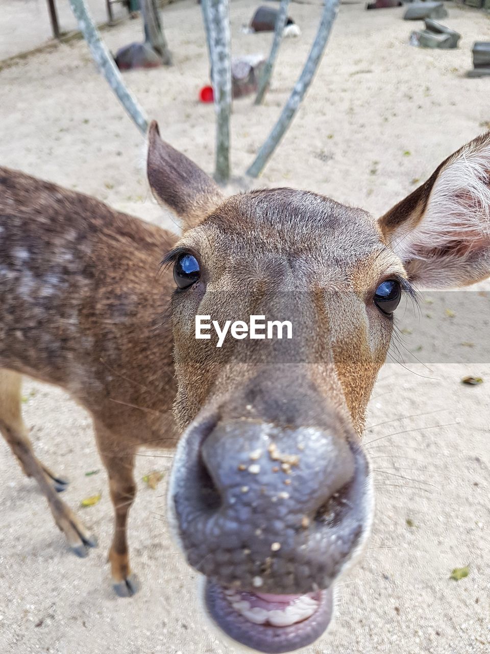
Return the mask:
POLYGON ((110 497, 114 505, 114 536, 108 556, 112 584, 114 591, 120 597, 131 597, 139 589, 137 576, 131 574, 127 548, 127 516, 136 495, 133 475, 134 454, 132 450, 117 451, 114 447, 116 440, 114 433, 100 423, 94 424, 99 451, 109 477, 110 497))

